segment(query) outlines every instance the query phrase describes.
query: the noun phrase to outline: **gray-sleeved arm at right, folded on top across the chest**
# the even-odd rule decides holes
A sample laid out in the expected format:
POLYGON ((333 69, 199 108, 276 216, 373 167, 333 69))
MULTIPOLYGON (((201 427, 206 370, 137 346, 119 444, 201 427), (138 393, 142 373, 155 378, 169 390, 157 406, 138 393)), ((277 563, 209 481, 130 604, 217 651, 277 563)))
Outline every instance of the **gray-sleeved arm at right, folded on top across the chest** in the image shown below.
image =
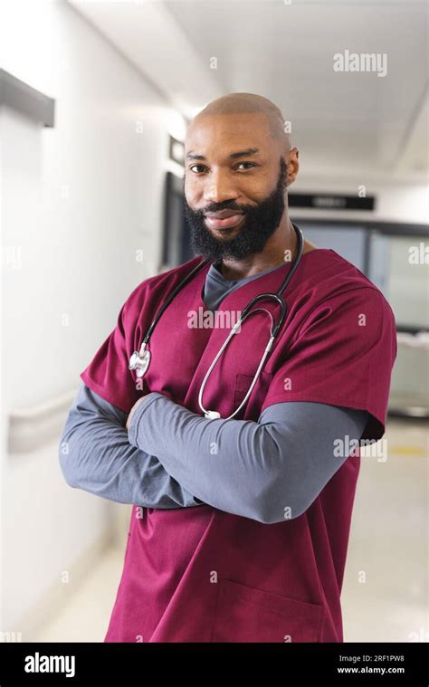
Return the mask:
POLYGON ((158 393, 138 402, 129 441, 156 453, 198 499, 264 523, 307 510, 348 458, 334 442, 358 441, 367 412, 318 403, 267 408, 259 422, 207 420, 158 393))

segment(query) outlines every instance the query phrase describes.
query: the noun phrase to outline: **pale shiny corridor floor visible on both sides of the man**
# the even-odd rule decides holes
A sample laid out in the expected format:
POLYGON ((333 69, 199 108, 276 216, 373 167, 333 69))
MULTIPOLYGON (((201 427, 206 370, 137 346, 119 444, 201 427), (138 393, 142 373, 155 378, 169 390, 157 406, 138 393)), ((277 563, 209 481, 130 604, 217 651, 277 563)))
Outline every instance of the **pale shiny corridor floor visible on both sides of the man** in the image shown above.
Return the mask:
MULTIPOLYGON (((346 642, 428 641, 429 431, 391 421, 387 460, 363 452, 342 593, 346 642)), ((124 533, 124 544, 126 533, 124 533)), ((110 549, 35 641, 102 642, 123 549, 110 549)))

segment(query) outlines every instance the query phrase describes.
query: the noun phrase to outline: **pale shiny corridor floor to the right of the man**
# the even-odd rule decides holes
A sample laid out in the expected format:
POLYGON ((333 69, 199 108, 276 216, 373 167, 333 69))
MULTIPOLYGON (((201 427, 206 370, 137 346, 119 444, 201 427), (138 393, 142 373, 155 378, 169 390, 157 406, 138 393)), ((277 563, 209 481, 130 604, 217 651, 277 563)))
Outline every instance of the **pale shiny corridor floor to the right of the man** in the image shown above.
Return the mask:
POLYGON ((429 430, 396 420, 385 437, 385 462, 362 452, 342 593, 345 641, 427 642, 429 430))

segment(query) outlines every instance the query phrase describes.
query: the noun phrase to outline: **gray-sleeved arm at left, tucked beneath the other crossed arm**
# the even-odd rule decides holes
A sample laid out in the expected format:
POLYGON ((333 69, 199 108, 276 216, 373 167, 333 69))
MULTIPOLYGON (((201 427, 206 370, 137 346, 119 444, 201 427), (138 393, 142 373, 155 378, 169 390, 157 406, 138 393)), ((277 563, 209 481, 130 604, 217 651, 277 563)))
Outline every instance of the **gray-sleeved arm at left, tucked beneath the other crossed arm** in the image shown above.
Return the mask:
POLYGON ((59 446, 66 482, 110 501, 148 508, 200 505, 156 456, 129 444, 126 417, 122 410, 81 386, 59 446))

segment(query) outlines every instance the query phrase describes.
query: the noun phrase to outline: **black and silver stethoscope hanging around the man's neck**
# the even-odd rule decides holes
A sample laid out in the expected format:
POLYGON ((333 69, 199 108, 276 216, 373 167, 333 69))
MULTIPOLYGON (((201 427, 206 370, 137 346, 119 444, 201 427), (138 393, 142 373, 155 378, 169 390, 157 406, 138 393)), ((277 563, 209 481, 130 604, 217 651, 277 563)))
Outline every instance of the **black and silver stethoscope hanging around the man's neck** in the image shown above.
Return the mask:
MULTIPOLYGON (((228 417, 226 417, 225 418, 226 420, 230 420, 232 417, 234 417, 234 415, 237 415, 237 413, 239 413, 240 410, 243 408, 243 406, 247 403, 247 399, 252 394, 253 386, 256 384, 258 377, 261 374, 262 367, 265 363, 265 360, 266 360, 268 354, 270 353, 270 350, 272 349, 272 343, 273 343, 274 339, 277 337, 277 335, 279 334, 279 331, 281 330, 283 322, 286 319, 287 307, 286 307, 286 302, 284 301, 284 298, 282 297, 281 294, 286 289, 287 285, 291 281, 293 273, 296 271, 298 265, 300 264, 300 258, 301 258, 302 252, 304 250, 304 235, 302 234, 302 231, 301 231, 300 227, 298 226, 298 224, 293 224, 293 223, 291 223, 291 224, 292 224, 292 226, 293 226, 293 228, 297 234, 297 238, 298 238, 297 254, 296 254, 294 261, 292 262, 291 271, 287 274, 285 279, 282 281, 281 286, 278 289, 278 291, 276 291, 275 293, 260 293, 259 296, 255 296, 255 298, 253 298, 253 300, 250 301, 246 305, 244 310, 240 313, 239 320, 237 320, 237 322, 235 322, 233 329, 231 329, 230 333, 228 334, 227 339, 225 339, 224 345, 219 350, 213 363, 211 364, 211 366, 207 370, 207 373, 205 375, 205 378, 203 380, 203 383, 200 387, 200 391, 198 394, 198 405, 200 406, 201 410, 203 411, 205 417, 207 417, 210 420, 218 419, 218 418, 220 418, 221 415, 220 415, 220 413, 218 413, 215 410, 206 410, 205 406, 203 406, 203 393, 205 390, 205 385, 207 383, 208 378, 210 377, 210 375, 212 373, 213 368, 215 367, 215 364, 217 363, 217 361, 219 360, 219 358, 223 354, 224 349, 227 347, 230 340, 234 337, 234 334, 236 333, 237 329, 239 329, 241 327, 243 321, 246 320, 246 318, 249 317, 249 315, 253 315, 254 312, 259 312, 259 311, 266 312, 270 316, 270 319, 272 322, 271 331, 270 331, 270 339, 268 341, 268 344, 267 344, 265 350, 263 351, 261 362, 259 364, 258 369, 256 370, 256 373, 253 377, 252 384, 249 387, 247 394, 244 396, 243 401, 240 404, 240 406, 238 406, 238 408, 234 411, 234 413, 232 413, 232 415, 229 415, 228 417), (254 310, 251 311, 251 309, 253 308, 253 305, 255 303, 258 303, 259 301, 266 301, 268 299, 272 299, 272 300, 276 301, 276 303, 278 303, 281 307, 281 315, 280 315, 280 318, 279 318, 279 321, 277 322, 277 324, 274 324, 274 320, 272 318, 272 313, 269 310, 266 310, 265 308, 255 308, 254 310)), ((174 291, 172 291, 170 293, 170 295, 167 297, 167 300, 165 301, 164 305, 162 305, 161 308, 157 311, 157 314, 156 314, 154 320, 152 321, 152 323, 148 329, 148 332, 146 333, 145 338, 143 339, 143 342, 140 346, 140 350, 139 351, 135 350, 134 353, 129 358, 129 369, 130 370, 137 369, 137 373, 136 373, 137 377, 144 377, 144 375, 146 375, 146 373, 148 372, 148 367, 150 364, 150 350, 148 350, 147 346, 148 346, 148 341, 152 335, 152 332, 155 329, 155 327, 157 326, 157 321, 161 317, 164 310, 167 309, 167 307, 171 303, 171 301, 173 301, 173 299, 176 297, 177 293, 179 291, 181 291, 186 286, 188 281, 191 281, 191 279, 195 276, 195 274, 197 272, 199 272, 203 267, 205 267, 205 265, 208 262, 209 262, 208 260, 204 260, 203 262, 199 262, 196 265, 196 267, 194 268, 194 270, 192 270, 192 272, 190 272, 185 277, 185 279, 183 281, 181 281, 176 286, 176 289, 174 289, 174 291)))

